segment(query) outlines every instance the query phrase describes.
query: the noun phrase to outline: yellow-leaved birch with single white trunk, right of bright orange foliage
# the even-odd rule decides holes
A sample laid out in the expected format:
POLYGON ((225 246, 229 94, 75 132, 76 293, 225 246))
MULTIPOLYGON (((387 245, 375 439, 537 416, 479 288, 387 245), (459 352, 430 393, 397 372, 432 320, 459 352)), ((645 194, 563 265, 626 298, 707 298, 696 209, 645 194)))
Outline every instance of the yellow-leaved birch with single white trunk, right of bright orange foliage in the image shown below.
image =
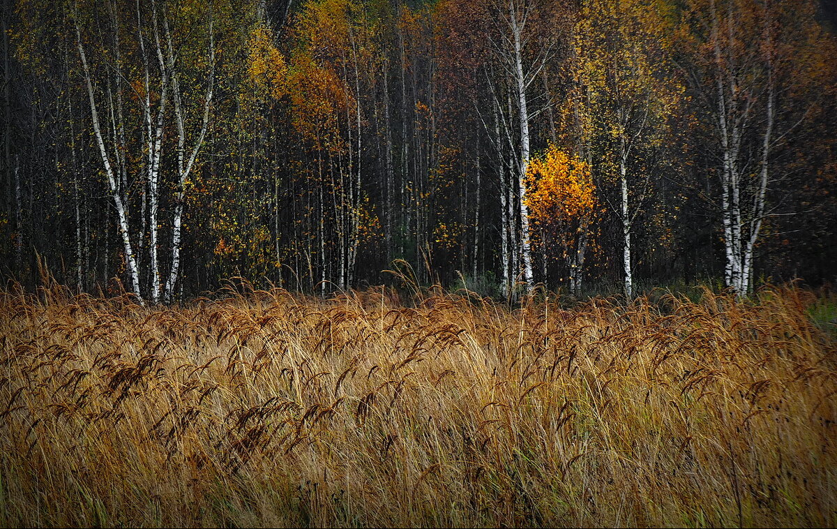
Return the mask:
POLYGON ((671 61, 670 4, 659 0, 588 0, 576 28, 578 97, 588 159, 603 184, 623 237, 624 294, 633 295, 631 234, 650 197, 650 165, 682 89, 671 61))

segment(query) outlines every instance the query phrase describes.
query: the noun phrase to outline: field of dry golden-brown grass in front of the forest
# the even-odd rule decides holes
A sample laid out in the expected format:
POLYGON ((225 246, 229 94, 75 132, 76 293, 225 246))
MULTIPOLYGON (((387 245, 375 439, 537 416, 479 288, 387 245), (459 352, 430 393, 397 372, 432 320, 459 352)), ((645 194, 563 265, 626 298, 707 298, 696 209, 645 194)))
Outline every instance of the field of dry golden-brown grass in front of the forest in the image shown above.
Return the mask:
POLYGON ((814 294, 0 292, 3 526, 835 526, 814 294))

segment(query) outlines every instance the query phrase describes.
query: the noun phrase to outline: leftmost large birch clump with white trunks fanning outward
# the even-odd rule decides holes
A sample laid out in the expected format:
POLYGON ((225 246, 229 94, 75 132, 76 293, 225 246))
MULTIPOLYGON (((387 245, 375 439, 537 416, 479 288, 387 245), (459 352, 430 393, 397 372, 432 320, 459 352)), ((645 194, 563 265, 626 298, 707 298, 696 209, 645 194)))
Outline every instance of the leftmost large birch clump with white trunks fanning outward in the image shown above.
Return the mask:
MULTIPOLYGON (((117 223, 126 254, 126 271, 131 288, 139 299, 145 297, 152 304, 170 302, 180 274, 182 219, 189 177, 193 172, 203 141, 207 133, 210 109, 213 100, 215 77, 215 39, 213 12, 208 10, 208 22, 200 23, 203 4, 158 4, 155 0, 143 3, 136 0, 133 5, 135 20, 133 34, 122 33, 125 13, 116 3, 109 4, 110 24, 105 26, 110 34, 101 39, 100 53, 96 54, 95 68, 89 61, 85 49, 84 34, 90 33, 85 23, 95 18, 96 12, 80 13, 74 9, 74 30, 77 49, 82 64, 88 104, 96 143, 110 194, 114 201, 117 223), (177 23, 177 27, 172 27, 177 23), (200 29, 206 35, 206 48, 200 47, 200 29), (205 59, 196 59, 196 56, 205 59), (108 58, 112 58, 109 60, 108 58), (202 74, 196 74, 195 69, 202 74), (131 80, 131 75, 137 74, 131 80), (200 80, 203 77, 203 82, 200 80), (201 86, 203 84, 203 87, 201 86), (136 123, 138 145, 131 146, 126 140, 126 118, 123 86, 130 85, 131 100, 136 101, 136 110, 141 121, 136 123), (187 97, 203 88, 203 101, 187 97), (172 109, 173 105, 173 109, 172 109), (102 119, 102 108, 105 118, 102 119), (167 143, 167 127, 173 118, 177 130, 176 162, 172 166, 164 163, 167 143), (129 211, 129 168, 131 148, 136 148, 141 160, 131 170, 141 176, 140 229, 131 230, 129 211), (169 167, 173 171, 169 171, 169 167), (168 177, 172 174, 173 177, 168 177), (162 196, 165 182, 173 181, 173 197, 162 196), (147 194, 147 197, 146 197, 147 194), (172 211, 161 210, 171 205, 172 211), (163 218, 171 215, 171 245, 162 244, 163 218), (147 217, 146 217, 147 215, 147 217), (147 221, 147 222, 146 222, 147 221), (141 256, 136 248, 148 239, 147 287, 143 292, 141 256), (168 250, 168 251, 165 251, 168 250), (170 268, 163 272, 168 261, 170 268), (145 295, 143 295, 145 294, 145 295)), ((136 159, 136 158, 134 158, 136 159)), ((135 221, 136 222, 136 221, 135 221)))

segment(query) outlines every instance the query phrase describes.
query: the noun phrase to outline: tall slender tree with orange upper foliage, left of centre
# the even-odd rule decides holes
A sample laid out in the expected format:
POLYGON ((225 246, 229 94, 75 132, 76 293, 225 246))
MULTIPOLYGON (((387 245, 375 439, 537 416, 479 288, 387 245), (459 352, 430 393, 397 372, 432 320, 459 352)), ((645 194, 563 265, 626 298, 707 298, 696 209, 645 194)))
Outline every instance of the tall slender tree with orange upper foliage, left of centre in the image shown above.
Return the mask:
MULTIPOLYGON (((362 206, 362 95, 369 28, 352 0, 306 3, 294 25, 291 52, 291 115, 306 146, 303 177, 314 182, 309 228, 316 233, 321 290, 326 280, 352 283, 362 206), (331 255, 326 259, 326 255, 331 255), (334 275, 329 270, 334 270, 334 275), (331 277, 330 277, 331 276, 331 277)), ((311 193, 311 189, 307 190, 311 193)), ((309 239, 311 240, 311 239, 309 239)), ((309 243, 310 245, 310 243, 309 243)), ((311 262, 311 258, 309 258, 311 262)), ((310 271, 313 275, 313 269, 310 271)))

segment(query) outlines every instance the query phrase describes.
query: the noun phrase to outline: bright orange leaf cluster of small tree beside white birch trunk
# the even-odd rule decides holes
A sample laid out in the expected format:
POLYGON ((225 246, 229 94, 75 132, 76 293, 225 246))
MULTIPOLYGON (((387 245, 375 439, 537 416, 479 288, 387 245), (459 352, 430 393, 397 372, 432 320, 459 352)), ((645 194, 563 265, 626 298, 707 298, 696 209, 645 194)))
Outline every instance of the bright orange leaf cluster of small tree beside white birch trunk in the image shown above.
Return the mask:
POLYGON ((590 167, 549 146, 526 168, 526 206, 535 223, 570 223, 593 211, 595 187, 590 167))

